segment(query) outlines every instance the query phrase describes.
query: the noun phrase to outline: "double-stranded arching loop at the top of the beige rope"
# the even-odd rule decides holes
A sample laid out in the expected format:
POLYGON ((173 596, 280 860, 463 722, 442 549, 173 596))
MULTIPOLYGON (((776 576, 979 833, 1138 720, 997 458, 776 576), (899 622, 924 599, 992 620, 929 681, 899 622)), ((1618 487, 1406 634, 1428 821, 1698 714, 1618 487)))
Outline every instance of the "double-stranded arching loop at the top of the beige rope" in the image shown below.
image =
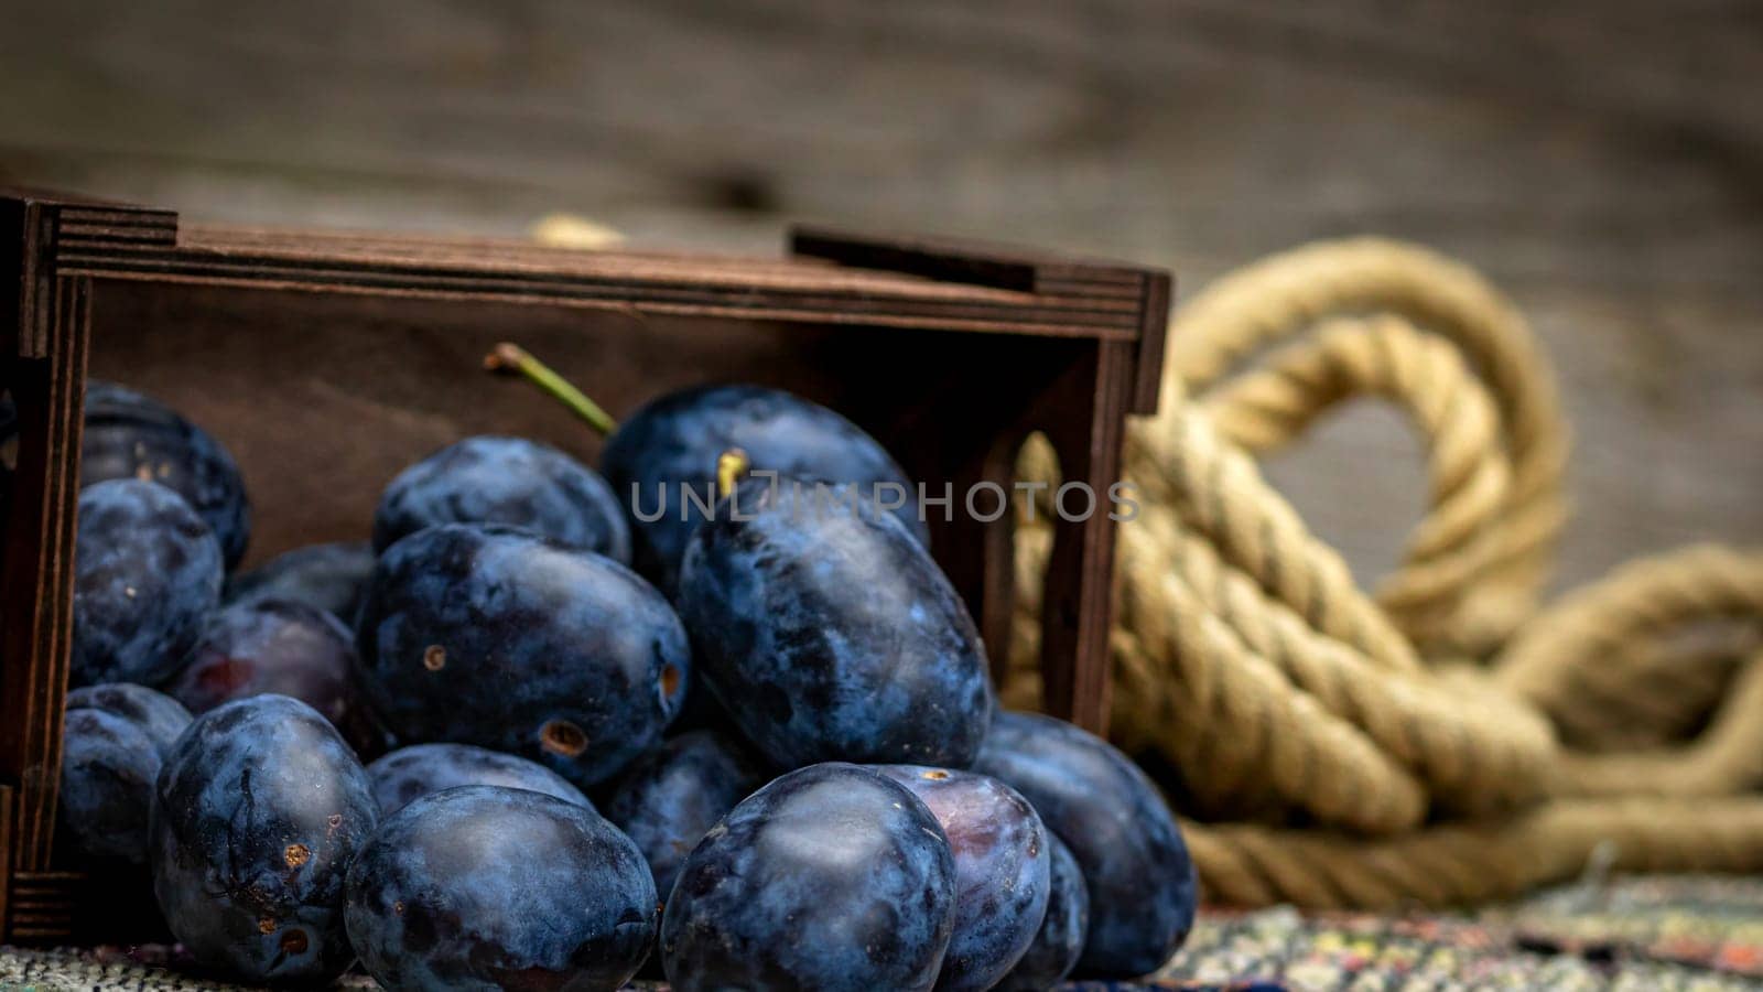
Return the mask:
MULTIPOLYGON (((1428 653, 1483 657, 1534 609, 1566 521, 1569 434, 1529 325, 1470 268, 1382 238, 1276 254, 1218 279, 1176 314, 1164 385, 1171 404, 1192 397, 1211 410, 1229 438, 1250 434, 1255 420, 1264 429, 1268 402, 1299 425, 1349 394, 1396 401, 1428 434, 1433 501, 1380 590, 1393 620, 1428 653), (1370 327, 1354 341, 1342 318, 1370 327), (1305 388, 1319 378, 1333 383, 1305 388), (1451 408, 1474 404, 1463 397, 1477 381, 1491 422, 1451 408), (1493 478, 1465 494, 1451 471, 1472 462, 1495 471, 1484 462, 1500 461, 1500 500, 1493 478), (1484 545, 1440 565, 1437 544, 1465 540, 1465 528, 1484 531, 1484 545)), ((1164 429, 1153 420, 1144 432, 1164 429)), ((1257 438, 1248 440, 1253 448, 1257 438)))

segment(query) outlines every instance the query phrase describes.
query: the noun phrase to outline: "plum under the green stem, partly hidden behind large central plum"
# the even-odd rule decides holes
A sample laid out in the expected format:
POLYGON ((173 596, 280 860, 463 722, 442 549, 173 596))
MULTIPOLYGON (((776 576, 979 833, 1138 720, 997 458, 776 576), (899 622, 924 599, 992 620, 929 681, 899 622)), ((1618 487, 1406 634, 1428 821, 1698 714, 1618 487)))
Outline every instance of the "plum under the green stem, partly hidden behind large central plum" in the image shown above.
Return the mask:
POLYGON ((508 524, 631 560, 631 530, 606 480, 525 438, 465 438, 404 470, 379 500, 374 549, 439 524, 508 524))

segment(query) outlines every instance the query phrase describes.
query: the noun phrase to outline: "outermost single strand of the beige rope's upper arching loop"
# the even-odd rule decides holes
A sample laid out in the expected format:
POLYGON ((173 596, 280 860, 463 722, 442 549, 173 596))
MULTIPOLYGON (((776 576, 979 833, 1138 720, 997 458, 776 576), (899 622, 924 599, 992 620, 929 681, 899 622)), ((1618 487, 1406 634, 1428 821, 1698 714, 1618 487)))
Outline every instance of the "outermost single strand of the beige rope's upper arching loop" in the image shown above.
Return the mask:
MULTIPOLYGON (((1456 634, 1465 650, 1484 651, 1529 614, 1546 577, 1566 517, 1560 477, 1567 431, 1553 374, 1529 327, 1476 272, 1380 238, 1276 254, 1218 279, 1178 312, 1165 390, 1204 397, 1269 344, 1299 337, 1329 316, 1375 312, 1402 316, 1460 348, 1499 406, 1511 491, 1488 538, 1491 560, 1467 593, 1456 634)), ((1400 574, 1391 579, 1402 581, 1400 574)))

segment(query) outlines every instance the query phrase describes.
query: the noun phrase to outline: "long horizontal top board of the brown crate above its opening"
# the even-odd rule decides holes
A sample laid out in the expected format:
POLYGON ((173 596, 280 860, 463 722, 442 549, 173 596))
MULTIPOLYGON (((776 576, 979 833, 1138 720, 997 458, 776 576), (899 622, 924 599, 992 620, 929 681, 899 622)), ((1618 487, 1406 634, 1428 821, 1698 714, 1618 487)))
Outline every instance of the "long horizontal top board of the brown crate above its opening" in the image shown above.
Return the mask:
MULTIPOLYGON (((150 228, 157 229, 157 228, 150 228)), ((682 316, 1135 339, 1139 298, 1008 291, 837 265, 698 261, 492 240, 196 228, 176 242, 65 237, 67 275, 635 307, 682 316)))

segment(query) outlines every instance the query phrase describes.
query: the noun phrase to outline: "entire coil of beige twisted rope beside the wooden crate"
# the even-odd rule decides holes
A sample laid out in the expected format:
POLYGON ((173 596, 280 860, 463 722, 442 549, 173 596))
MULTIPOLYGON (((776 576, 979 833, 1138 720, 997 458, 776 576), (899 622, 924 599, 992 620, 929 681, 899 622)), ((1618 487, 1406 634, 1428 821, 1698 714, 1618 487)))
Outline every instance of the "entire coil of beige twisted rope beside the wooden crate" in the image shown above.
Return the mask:
MULTIPOLYGON (((1112 725, 1201 817, 1211 898, 1476 902, 1601 845, 1625 870, 1763 868, 1763 798, 1742 794, 1763 784, 1763 552, 1636 561, 1537 612, 1567 431, 1479 275, 1368 238, 1275 256, 1178 316, 1164 376, 1125 452, 1112 725), (1365 395, 1419 429, 1432 489, 1375 597, 1253 461, 1365 395)), ((1056 485, 1051 448, 1017 473, 1056 485)), ((1049 551, 1024 521, 1017 706, 1049 551)))

